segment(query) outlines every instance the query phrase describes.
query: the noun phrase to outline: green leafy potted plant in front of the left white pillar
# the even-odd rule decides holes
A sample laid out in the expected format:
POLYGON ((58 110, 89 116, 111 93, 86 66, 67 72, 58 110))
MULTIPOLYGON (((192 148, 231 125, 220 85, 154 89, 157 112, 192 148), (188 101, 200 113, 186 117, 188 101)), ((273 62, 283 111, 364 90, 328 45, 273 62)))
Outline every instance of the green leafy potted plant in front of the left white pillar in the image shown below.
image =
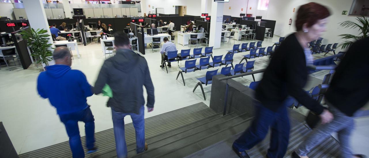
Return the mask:
POLYGON ((23 36, 23 39, 27 39, 27 44, 32 49, 32 56, 37 58, 37 64, 44 63, 46 66, 49 66, 48 62, 52 61, 52 51, 51 45, 48 44, 50 35, 47 34, 48 30, 44 29, 27 29, 25 31, 20 32, 23 36))

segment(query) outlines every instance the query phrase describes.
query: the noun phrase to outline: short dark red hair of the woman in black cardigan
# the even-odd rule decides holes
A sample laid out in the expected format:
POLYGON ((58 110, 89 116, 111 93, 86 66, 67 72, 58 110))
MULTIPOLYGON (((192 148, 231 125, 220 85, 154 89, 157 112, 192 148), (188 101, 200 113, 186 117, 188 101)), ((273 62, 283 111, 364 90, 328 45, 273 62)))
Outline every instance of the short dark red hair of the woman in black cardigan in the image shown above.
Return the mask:
POLYGON ((307 23, 307 27, 311 27, 318 20, 327 18, 330 15, 328 8, 318 3, 310 2, 304 4, 297 10, 296 30, 301 31, 302 25, 305 23, 307 23))

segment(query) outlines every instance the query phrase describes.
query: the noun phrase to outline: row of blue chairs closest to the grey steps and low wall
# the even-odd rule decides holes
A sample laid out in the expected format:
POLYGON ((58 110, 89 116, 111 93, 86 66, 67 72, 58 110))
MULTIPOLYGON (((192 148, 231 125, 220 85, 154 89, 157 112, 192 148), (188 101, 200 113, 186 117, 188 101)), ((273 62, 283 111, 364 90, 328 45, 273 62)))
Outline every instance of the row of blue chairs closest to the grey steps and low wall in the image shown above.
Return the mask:
MULTIPOLYGON (((251 71, 254 71, 254 63, 255 61, 249 61, 248 63, 246 63, 246 66, 244 66, 245 63, 239 63, 234 66, 234 69, 231 69, 231 66, 228 66, 228 67, 226 66, 221 69, 220 73, 218 73, 219 69, 216 69, 213 71, 207 71, 204 77, 197 78, 197 80, 199 80, 200 82, 196 84, 192 92, 194 93, 196 88, 200 86, 201 92, 203 93, 203 96, 204 96, 204 100, 206 100, 204 89, 202 85, 205 85, 205 86, 210 85, 212 83, 213 76, 220 75, 220 74, 225 75, 225 76, 232 76, 232 75, 237 75, 240 73, 251 72, 251 71)), ((178 78, 178 75, 177 75, 177 78, 178 78)), ((182 79, 183 79, 183 75, 182 75, 182 79)), ((254 79, 254 82, 255 82, 254 75, 252 75, 252 79, 254 79)), ((184 83, 184 79, 183 79, 183 83, 184 83)))

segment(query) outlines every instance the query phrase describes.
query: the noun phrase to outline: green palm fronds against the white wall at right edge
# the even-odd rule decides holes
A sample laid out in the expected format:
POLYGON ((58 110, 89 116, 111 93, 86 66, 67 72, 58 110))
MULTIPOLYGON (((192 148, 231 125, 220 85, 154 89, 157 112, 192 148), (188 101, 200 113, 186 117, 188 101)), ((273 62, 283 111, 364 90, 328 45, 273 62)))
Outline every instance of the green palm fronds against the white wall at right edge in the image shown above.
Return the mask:
POLYGON ((341 46, 342 49, 350 47, 354 42, 360 39, 369 37, 368 18, 362 16, 362 17, 356 17, 356 20, 358 21, 358 23, 355 23, 353 21, 344 21, 342 23, 339 23, 341 27, 350 28, 350 29, 359 28, 359 31, 361 31, 358 36, 351 35, 351 34, 338 35, 339 37, 344 39, 344 42, 339 45, 341 46))

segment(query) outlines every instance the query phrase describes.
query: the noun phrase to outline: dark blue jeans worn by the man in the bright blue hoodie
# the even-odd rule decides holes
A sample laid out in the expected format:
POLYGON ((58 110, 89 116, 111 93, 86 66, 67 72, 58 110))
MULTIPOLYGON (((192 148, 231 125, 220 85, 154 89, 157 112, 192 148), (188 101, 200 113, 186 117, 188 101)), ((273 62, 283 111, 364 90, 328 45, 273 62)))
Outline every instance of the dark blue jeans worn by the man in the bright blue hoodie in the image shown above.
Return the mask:
POLYGON ((95 123, 90 106, 75 113, 59 115, 59 117, 65 125, 73 158, 84 158, 85 152, 83 151, 81 137, 79 135, 78 121, 85 123, 86 147, 91 150, 94 148, 95 142, 95 123))

